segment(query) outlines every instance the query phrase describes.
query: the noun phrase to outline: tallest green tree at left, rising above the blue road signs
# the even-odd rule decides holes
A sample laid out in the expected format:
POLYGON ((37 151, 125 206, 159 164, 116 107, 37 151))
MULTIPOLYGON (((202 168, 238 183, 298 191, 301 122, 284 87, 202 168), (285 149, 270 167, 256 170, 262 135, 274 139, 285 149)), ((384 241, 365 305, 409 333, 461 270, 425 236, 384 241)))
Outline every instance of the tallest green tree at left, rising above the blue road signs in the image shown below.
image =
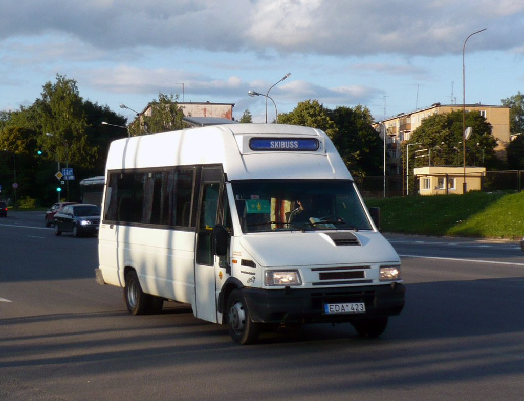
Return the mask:
POLYGON ((85 132, 87 121, 77 81, 57 74, 55 83, 43 85, 41 95, 39 145, 63 163, 92 167, 97 148, 90 146, 85 132))

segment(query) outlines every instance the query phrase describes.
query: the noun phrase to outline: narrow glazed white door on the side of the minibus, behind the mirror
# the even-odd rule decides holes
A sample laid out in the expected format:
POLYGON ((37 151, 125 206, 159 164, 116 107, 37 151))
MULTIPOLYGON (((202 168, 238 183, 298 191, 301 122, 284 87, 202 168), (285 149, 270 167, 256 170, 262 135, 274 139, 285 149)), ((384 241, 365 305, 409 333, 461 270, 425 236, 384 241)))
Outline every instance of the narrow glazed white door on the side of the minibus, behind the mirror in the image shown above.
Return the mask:
POLYGON ((213 227, 222 196, 223 172, 218 167, 203 167, 199 192, 199 214, 196 225, 195 316, 217 321, 215 275, 219 258, 213 251, 213 227))

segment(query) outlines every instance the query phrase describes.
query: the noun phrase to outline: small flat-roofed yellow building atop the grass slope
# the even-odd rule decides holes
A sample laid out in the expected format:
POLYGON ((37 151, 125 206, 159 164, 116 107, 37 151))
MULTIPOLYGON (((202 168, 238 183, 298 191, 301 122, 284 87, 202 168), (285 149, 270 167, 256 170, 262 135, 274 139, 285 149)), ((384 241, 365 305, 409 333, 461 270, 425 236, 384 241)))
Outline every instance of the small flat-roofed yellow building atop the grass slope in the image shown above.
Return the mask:
POLYGON ((420 167, 413 169, 413 174, 419 179, 420 195, 444 195, 464 193, 481 189, 481 180, 485 175, 484 167, 420 167))

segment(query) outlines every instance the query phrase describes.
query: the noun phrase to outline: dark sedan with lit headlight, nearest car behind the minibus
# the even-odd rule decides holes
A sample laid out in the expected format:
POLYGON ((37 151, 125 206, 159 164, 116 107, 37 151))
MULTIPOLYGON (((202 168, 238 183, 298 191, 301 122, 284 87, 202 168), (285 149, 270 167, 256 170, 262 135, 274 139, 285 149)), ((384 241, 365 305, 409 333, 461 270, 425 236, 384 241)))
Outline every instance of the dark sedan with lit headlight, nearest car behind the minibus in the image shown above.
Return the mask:
POLYGON ((100 206, 89 204, 74 204, 64 206, 54 215, 54 235, 62 232, 72 232, 75 237, 93 236, 100 226, 100 206))

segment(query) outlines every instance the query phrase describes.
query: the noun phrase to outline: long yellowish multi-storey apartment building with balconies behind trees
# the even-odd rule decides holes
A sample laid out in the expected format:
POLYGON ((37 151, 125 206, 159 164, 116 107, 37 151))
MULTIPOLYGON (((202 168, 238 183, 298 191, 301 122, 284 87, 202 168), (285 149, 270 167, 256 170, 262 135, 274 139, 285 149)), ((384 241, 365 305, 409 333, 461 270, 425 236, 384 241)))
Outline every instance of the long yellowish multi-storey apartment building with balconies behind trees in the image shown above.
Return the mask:
MULTIPOLYGON (((430 107, 414 110, 409 113, 400 113, 394 117, 386 118, 376 122, 373 127, 379 131, 382 124, 386 129, 387 159, 386 169, 389 175, 402 174, 402 147, 401 144, 408 141, 411 132, 416 130, 424 118, 434 114, 444 114, 463 109, 463 105, 451 104, 443 105, 434 103, 430 107)), ((506 146, 509 143, 509 107, 491 106, 480 103, 467 104, 466 112, 476 111, 486 118, 486 121, 493 126, 493 136, 497 140, 498 157, 506 157, 506 146)), ((381 130, 381 137, 384 130, 381 130)))

